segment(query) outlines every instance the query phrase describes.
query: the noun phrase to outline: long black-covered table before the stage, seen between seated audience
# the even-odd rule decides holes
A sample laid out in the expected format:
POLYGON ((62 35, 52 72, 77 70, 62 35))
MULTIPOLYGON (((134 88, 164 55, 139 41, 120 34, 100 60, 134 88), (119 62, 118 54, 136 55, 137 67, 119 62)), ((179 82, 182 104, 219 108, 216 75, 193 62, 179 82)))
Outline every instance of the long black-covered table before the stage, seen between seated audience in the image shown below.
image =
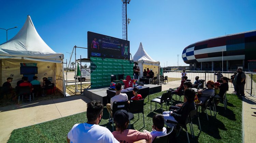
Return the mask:
MULTIPOLYGON (((149 101, 149 87, 147 86, 142 86, 141 89, 139 89, 139 94, 142 96, 143 99, 145 99, 148 96, 148 101, 149 101)), ((121 92, 121 93, 126 93, 128 96, 128 100, 131 99, 133 96, 132 90, 131 91, 126 91, 126 92, 121 92)), ((107 90, 107 103, 110 103, 110 99, 116 95, 115 90, 107 90)))

